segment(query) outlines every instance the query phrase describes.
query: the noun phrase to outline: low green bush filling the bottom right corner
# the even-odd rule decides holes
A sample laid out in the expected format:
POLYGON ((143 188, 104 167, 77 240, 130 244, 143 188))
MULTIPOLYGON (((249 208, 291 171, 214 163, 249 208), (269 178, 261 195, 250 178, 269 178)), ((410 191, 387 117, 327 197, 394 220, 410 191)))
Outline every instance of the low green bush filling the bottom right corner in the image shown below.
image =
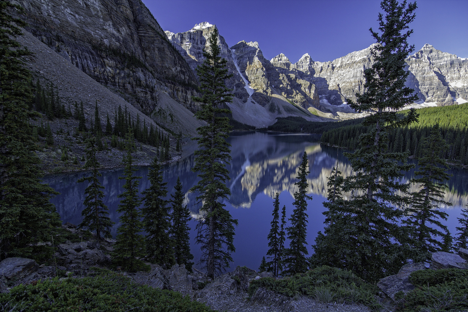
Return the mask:
POLYGON ((405 294, 395 295, 397 311, 467 311, 468 270, 447 268, 420 270, 410 274, 416 286, 405 294))

